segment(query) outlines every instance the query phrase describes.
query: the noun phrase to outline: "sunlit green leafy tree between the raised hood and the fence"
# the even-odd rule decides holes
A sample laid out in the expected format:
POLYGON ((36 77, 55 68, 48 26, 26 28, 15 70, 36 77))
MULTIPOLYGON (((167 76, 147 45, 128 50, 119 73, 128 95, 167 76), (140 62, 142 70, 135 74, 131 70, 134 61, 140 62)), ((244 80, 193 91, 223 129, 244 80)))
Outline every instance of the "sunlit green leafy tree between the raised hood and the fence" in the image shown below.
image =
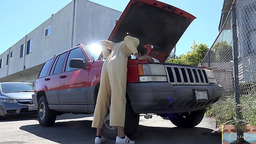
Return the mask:
POLYGON ((206 44, 196 44, 195 41, 190 48, 192 50, 188 51, 187 54, 172 56, 168 62, 198 66, 198 64, 202 62, 204 56, 207 54, 209 48, 206 44))

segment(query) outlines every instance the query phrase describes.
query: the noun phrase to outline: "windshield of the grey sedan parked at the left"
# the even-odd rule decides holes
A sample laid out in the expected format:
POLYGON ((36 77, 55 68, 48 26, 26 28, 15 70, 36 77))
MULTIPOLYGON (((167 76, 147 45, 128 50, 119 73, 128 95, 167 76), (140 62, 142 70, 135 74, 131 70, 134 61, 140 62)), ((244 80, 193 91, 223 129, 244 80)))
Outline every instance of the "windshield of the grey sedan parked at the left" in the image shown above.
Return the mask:
POLYGON ((10 83, 10 84, 1 84, 3 93, 10 92, 34 92, 33 84, 19 84, 19 83, 10 83))

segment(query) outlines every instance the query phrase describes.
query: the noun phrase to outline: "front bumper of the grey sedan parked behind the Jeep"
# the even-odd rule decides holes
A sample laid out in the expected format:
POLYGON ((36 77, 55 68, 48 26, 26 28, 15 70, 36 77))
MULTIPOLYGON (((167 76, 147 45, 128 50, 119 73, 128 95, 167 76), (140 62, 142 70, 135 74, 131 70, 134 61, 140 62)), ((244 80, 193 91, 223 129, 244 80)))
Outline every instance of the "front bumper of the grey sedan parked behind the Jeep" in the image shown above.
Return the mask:
POLYGON ((1 116, 15 115, 15 114, 36 114, 37 110, 28 110, 28 104, 13 104, 0 102, 1 116))

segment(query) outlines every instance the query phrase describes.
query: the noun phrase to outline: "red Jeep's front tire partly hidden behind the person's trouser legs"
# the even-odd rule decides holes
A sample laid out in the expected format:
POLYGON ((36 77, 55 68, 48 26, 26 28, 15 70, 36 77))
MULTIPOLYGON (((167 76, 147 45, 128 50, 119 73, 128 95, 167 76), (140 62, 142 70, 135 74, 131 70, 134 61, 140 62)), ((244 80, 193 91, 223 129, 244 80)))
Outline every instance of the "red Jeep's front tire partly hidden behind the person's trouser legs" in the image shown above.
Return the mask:
MULTIPOLYGON (((102 126, 102 135, 108 139, 115 140, 117 136, 117 127, 113 127, 109 125, 109 116, 110 115, 110 106, 108 107, 108 111, 104 120, 104 124, 102 126)), ((130 100, 126 98, 126 112, 125 112, 125 124, 124 124, 124 134, 128 137, 132 137, 132 135, 136 132, 140 121, 140 114, 136 114, 132 110, 132 106, 130 104, 130 100)))

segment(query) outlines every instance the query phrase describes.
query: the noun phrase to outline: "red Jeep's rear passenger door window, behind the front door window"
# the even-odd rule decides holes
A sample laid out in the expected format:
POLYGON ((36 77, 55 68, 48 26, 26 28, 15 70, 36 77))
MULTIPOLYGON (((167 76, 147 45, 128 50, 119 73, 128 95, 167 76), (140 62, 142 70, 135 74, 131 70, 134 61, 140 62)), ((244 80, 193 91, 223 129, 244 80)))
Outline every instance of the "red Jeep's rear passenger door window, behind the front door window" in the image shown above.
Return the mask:
POLYGON ((60 74, 62 72, 62 67, 64 64, 64 60, 66 58, 67 52, 65 52, 64 54, 61 54, 60 56, 58 56, 54 62, 54 64, 52 65, 52 69, 50 72, 50 75, 52 74, 60 74))

